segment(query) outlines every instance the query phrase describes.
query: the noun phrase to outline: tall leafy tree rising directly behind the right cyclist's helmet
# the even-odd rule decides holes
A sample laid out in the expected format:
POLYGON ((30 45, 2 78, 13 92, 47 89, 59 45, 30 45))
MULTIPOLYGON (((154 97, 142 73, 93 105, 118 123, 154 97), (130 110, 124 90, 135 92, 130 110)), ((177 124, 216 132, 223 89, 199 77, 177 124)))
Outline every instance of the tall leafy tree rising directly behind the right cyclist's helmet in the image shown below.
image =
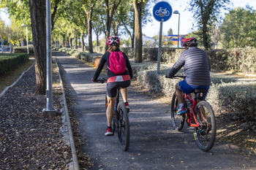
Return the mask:
POLYGON ((203 46, 206 50, 211 48, 210 29, 220 16, 221 9, 227 9, 230 0, 190 0, 188 8, 194 13, 196 26, 200 29, 201 34, 198 36, 203 38, 203 46))

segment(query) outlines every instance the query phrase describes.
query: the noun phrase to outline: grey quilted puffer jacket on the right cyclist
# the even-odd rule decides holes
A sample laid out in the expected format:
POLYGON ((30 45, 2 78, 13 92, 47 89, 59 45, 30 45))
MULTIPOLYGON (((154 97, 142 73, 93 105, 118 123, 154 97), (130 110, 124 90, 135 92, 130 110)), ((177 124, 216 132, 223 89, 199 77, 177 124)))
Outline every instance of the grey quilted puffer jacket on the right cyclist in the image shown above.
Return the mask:
POLYGON ((173 77, 184 66, 186 81, 189 85, 211 85, 211 64, 206 51, 197 47, 189 47, 181 53, 181 57, 167 74, 173 77))

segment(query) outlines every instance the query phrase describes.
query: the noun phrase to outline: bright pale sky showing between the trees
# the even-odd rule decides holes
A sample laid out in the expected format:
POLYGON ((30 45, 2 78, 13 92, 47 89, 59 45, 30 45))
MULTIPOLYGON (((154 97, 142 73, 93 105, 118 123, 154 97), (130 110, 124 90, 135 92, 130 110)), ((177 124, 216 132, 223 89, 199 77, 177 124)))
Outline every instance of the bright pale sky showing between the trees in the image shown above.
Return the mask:
MULTIPOLYGON (((186 10, 189 6, 190 0, 159 0, 159 1, 167 1, 170 6, 172 7, 173 11, 178 10, 180 13, 180 28, 179 34, 188 34, 192 30, 192 13, 186 10)), ((230 0, 233 3, 232 8, 235 7, 246 7, 246 4, 249 4, 250 7, 256 9, 256 0, 230 0)), ((158 1, 157 1, 158 2, 158 1)), ((157 3, 156 2, 156 3, 157 3)), ((154 4, 151 4, 150 11, 153 12, 154 4)), ((223 14, 225 12, 222 12, 223 14)), ((7 25, 10 25, 10 20, 8 15, 4 12, 3 9, 0 11, 1 20, 4 20, 7 25)), ((160 23, 159 21, 155 20, 152 15, 152 23, 148 23, 146 26, 143 27, 142 31, 143 34, 146 36, 156 36, 159 34, 160 23)), ((170 19, 166 22, 163 22, 162 26, 162 34, 167 34, 167 31, 172 28, 173 34, 178 34, 178 15, 172 14, 170 19)))

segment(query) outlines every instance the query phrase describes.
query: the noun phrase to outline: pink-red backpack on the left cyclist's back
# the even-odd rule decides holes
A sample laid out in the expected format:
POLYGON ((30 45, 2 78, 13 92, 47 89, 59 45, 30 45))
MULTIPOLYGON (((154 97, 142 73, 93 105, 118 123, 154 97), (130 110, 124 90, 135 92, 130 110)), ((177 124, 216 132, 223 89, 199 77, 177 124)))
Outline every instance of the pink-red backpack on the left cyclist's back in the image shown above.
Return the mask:
POLYGON ((110 52, 108 69, 115 74, 122 74, 127 70, 123 53, 120 51, 110 52))

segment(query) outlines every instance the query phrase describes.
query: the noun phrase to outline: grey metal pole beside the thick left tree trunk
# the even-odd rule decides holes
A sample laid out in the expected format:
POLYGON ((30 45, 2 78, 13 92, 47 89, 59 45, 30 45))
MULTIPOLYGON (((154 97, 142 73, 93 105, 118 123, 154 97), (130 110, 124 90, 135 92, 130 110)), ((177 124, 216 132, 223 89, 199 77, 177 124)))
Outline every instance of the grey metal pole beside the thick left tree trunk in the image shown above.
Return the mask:
POLYGON ((53 109, 52 55, 51 55, 51 12, 50 0, 46 0, 46 115, 56 115, 53 109))

